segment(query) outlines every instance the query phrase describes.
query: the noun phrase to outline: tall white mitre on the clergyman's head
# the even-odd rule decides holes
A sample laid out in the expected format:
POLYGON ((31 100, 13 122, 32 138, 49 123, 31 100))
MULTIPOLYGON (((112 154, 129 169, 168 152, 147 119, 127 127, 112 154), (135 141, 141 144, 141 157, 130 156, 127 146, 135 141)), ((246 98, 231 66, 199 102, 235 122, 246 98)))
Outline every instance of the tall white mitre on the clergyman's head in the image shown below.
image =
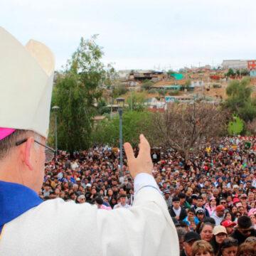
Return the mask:
POLYGON ((54 55, 38 41, 26 46, 0 27, 0 127, 48 135, 54 55))

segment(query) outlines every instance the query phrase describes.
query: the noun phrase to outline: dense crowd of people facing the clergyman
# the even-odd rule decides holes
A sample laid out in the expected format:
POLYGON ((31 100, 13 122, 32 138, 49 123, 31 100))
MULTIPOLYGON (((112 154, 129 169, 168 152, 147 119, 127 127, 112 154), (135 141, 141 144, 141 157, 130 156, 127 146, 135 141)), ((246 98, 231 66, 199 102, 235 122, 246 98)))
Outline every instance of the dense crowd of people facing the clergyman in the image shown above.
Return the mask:
MULTIPOLYGON (((225 137, 197 154, 191 150, 187 161, 174 149, 151 149, 152 174, 176 225, 181 255, 255 255, 255 148, 256 137, 225 137)), ((102 210, 132 205, 133 181, 125 157, 120 175, 118 149, 58 153, 46 164, 43 200, 102 210)))

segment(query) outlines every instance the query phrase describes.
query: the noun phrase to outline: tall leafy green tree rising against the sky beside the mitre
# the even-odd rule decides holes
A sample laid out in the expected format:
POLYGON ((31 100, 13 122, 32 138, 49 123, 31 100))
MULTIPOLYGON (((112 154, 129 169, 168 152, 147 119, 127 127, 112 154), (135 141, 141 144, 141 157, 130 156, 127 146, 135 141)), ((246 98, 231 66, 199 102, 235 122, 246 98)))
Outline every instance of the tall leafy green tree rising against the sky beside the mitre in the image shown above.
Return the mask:
MULTIPOLYGON (((102 48, 81 38, 80 46, 58 75, 52 106, 58 105, 58 146, 72 153, 90 146, 95 100, 100 99, 106 72, 101 63, 102 48)), ((54 138, 53 138, 54 139, 54 138)))

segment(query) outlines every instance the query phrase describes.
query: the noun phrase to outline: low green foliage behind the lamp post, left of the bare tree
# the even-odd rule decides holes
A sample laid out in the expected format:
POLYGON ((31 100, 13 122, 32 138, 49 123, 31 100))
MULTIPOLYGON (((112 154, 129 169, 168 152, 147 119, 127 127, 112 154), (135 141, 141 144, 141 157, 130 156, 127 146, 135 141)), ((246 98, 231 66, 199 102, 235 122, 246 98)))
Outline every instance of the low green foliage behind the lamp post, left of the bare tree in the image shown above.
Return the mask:
MULTIPOLYGON (((146 127, 150 127, 151 112, 126 111, 122 117, 123 142, 130 142, 133 146, 139 143, 139 134, 145 134, 146 127)), ((112 120, 104 119, 98 122, 92 134, 94 144, 119 147, 119 114, 112 120)))

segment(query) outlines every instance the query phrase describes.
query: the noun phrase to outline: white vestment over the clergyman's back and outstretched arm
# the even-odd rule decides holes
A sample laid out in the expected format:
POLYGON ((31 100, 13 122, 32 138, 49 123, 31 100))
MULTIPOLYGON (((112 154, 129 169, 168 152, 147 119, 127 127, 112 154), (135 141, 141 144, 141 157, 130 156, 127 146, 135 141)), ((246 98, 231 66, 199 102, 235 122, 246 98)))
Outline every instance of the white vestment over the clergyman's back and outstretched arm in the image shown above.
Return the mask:
POLYGON ((144 186, 128 209, 45 201, 4 225, 0 255, 178 256, 179 248, 163 196, 144 186))

